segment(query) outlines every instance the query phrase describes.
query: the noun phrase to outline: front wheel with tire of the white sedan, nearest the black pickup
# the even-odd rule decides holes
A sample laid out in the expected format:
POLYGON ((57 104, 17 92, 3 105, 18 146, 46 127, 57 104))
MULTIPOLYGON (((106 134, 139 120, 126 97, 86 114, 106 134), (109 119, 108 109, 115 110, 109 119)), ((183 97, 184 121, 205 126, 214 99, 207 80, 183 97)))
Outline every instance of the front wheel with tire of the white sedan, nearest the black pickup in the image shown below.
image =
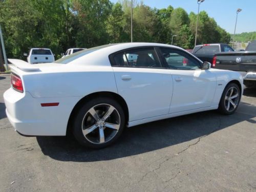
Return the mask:
POLYGON ((241 100, 240 88, 238 87, 238 85, 236 83, 229 83, 229 84, 227 84, 226 88, 224 89, 224 91, 222 93, 218 111, 224 115, 231 115, 238 109, 240 100, 241 100), (231 93, 232 89, 233 89, 233 92, 231 93), (233 96, 230 96, 230 94, 232 94, 233 96), (231 99, 232 97, 236 96, 236 94, 238 94, 238 97, 231 99), (227 99, 228 96, 230 96, 231 98, 229 97, 227 99), (232 103, 236 104, 236 107, 231 103, 231 101, 229 99, 232 100, 232 103), (228 108, 228 102, 229 102, 229 108, 228 108))

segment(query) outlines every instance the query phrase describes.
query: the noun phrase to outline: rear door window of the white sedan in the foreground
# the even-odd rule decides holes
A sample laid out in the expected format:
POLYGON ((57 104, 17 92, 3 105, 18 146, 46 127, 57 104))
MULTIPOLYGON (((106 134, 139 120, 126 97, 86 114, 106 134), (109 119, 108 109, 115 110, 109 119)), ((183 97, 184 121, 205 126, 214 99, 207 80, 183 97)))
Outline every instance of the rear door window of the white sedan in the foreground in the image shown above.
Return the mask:
POLYGON ((160 61, 154 48, 131 49, 117 53, 113 66, 160 68, 160 61))

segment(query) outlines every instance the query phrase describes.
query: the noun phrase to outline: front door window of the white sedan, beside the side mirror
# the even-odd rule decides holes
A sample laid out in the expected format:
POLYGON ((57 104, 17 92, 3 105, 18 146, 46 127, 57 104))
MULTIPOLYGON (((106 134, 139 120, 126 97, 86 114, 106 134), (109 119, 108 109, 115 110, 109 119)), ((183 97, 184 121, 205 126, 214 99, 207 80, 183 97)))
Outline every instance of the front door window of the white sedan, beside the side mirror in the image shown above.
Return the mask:
POLYGON ((197 70, 201 69, 201 63, 195 58, 189 56, 188 54, 176 50, 161 48, 163 57, 170 69, 178 70, 197 70))

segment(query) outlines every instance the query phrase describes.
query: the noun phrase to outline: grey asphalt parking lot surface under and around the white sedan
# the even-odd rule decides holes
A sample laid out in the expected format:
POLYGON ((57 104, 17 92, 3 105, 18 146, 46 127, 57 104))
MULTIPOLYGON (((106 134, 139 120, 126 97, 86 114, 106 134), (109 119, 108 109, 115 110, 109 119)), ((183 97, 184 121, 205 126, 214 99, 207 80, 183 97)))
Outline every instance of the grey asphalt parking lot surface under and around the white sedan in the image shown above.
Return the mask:
POLYGON ((94 151, 72 137, 18 135, 5 114, 9 87, 0 76, 0 191, 256 191, 256 90, 231 116, 139 125, 94 151))

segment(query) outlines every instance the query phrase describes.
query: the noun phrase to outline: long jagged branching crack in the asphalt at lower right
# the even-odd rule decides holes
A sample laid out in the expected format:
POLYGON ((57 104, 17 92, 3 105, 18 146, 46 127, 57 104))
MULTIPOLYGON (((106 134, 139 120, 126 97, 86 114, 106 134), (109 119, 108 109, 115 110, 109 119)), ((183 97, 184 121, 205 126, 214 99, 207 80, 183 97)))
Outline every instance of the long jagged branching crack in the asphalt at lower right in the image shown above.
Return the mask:
MULTIPOLYGON (((191 146, 194 146, 194 145, 198 144, 198 143, 201 141, 202 138, 205 138, 205 137, 209 136, 210 134, 212 134, 212 133, 214 133, 214 132, 220 130, 220 127, 221 127, 221 118, 219 117, 219 124, 218 124, 217 129, 213 130, 212 132, 210 132, 210 133, 208 133, 208 134, 206 134, 206 135, 204 135, 204 136, 199 137, 198 140, 197 140, 195 143, 189 144, 184 150, 178 152, 177 154, 175 154, 175 155, 173 155, 173 156, 168 157, 168 158, 165 159, 163 162, 159 163, 159 166, 158 166, 157 168, 155 168, 155 169, 153 169, 153 170, 150 170, 149 172, 147 172, 146 174, 144 174, 143 177, 138 181, 138 183, 140 183, 141 181, 143 181, 144 178, 145 178, 148 174, 150 174, 150 173, 155 173, 155 174, 159 177, 159 175, 156 173, 156 170, 160 169, 160 168, 161 168, 161 165, 162 165, 163 163, 165 163, 165 162, 167 162, 168 160, 170 160, 170 159, 172 159, 172 158, 174 158, 174 157, 176 157, 176 156, 182 154, 183 152, 187 151, 191 146)), ((162 159, 162 158, 160 158, 160 159, 162 159)), ((159 159, 159 160, 160 160, 160 159, 159 159)), ((182 159, 182 160, 183 160, 183 159, 182 159)), ((169 182, 169 181, 172 180, 172 179, 175 179, 180 173, 181 173, 181 171, 179 170, 179 173, 177 173, 173 178, 170 178, 167 182, 169 182)), ((162 180, 162 179, 161 179, 161 180, 162 180)), ((162 181, 163 181, 163 180, 162 180, 162 181)), ((164 181, 164 182, 166 183, 166 181, 164 181)))

